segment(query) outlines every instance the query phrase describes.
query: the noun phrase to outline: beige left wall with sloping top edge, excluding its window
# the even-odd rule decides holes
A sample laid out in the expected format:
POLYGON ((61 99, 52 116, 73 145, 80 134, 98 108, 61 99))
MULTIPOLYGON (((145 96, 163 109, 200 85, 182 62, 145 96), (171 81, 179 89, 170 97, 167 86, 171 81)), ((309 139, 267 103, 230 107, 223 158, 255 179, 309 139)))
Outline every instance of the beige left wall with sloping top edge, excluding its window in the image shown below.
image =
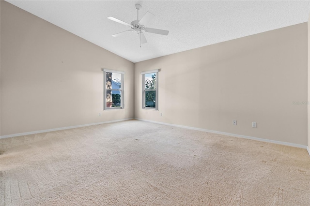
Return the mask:
POLYGON ((1 135, 134 117, 132 62, 8 2, 0 5, 1 135), (101 68, 126 72, 125 109, 103 111, 101 68))

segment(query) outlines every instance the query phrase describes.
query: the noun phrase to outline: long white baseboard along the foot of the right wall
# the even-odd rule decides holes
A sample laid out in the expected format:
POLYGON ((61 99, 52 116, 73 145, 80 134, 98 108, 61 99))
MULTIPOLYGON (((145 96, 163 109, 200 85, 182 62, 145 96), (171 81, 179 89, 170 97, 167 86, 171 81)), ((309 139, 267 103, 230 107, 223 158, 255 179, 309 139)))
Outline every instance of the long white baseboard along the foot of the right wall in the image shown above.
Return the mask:
POLYGON ((206 129, 196 128, 196 127, 187 127, 187 126, 183 126, 183 125, 169 124, 169 123, 157 122, 157 121, 152 121, 152 120, 147 120, 147 119, 140 119, 140 118, 135 118, 135 119, 141 120, 141 121, 153 122, 153 123, 157 123, 157 124, 173 126, 173 127, 181 127, 181 128, 186 128, 186 129, 190 129, 190 130, 198 130, 198 131, 202 131, 202 132, 210 132, 210 133, 216 133, 216 134, 223 134, 223 135, 227 135, 227 136, 241 137, 241 138, 245 138, 245 139, 257 140, 257 141, 261 141, 261 142, 275 143, 275 144, 278 144, 278 145, 286 145, 286 146, 291 146, 291 147, 304 148, 304 149, 308 150, 309 155, 310 155, 309 147, 307 147, 306 145, 299 145, 299 144, 294 144, 294 143, 289 143, 289 142, 281 142, 281 141, 275 141, 275 140, 270 140, 270 139, 263 139, 263 138, 258 138, 258 137, 251 137, 251 136, 245 136, 245 135, 239 135, 239 134, 232 134, 232 133, 227 133, 227 132, 218 132, 218 131, 206 130, 206 129))

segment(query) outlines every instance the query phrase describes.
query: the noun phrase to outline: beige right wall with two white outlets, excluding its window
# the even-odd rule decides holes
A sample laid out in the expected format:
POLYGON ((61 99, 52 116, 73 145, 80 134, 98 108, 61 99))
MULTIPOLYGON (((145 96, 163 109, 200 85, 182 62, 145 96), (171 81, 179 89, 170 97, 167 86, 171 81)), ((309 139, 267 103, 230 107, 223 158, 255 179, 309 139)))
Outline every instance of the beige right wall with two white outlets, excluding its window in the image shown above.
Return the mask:
POLYGON ((307 145, 307 23, 141 61, 135 80, 135 118, 307 145), (141 109, 154 69, 159 111, 141 109))

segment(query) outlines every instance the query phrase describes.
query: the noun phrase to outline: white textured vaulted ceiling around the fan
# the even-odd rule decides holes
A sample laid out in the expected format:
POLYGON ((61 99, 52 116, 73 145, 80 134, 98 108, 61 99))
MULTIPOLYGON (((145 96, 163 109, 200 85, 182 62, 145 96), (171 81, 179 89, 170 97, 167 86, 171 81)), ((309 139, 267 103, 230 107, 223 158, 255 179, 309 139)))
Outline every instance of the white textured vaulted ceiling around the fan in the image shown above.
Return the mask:
POLYGON ((7 1, 132 62, 303 23, 310 11, 309 0, 7 1), (111 37, 128 27, 107 17, 130 23, 137 18, 136 3, 142 5, 140 18, 147 11, 155 15, 146 26, 169 30, 168 36, 145 33, 148 43, 141 48, 134 32, 111 37))

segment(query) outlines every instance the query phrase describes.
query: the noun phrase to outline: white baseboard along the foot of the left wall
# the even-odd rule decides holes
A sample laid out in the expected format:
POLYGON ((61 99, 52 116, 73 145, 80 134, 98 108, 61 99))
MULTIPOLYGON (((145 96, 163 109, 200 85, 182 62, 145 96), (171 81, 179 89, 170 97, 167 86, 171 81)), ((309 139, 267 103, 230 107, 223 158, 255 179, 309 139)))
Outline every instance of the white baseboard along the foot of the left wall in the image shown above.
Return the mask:
POLYGON ((104 122, 97 122, 97 123, 83 124, 83 125, 76 125, 76 126, 69 126, 69 127, 61 127, 61 128, 55 128, 55 129, 49 129, 49 130, 39 130, 39 131, 34 131, 34 132, 23 132, 23 133, 2 135, 2 136, 0 136, 0 139, 8 138, 8 137, 23 136, 23 135, 28 135, 28 134, 37 134, 37 133, 43 133, 43 132, 67 130, 67 129, 73 129, 73 128, 78 128, 78 127, 87 127, 87 126, 92 126, 92 125, 97 125, 97 124, 108 124, 108 123, 113 123, 113 122, 126 121, 126 120, 130 120, 130 119, 133 119, 133 118, 118 119, 118 120, 112 120, 112 121, 104 121, 104 122))

